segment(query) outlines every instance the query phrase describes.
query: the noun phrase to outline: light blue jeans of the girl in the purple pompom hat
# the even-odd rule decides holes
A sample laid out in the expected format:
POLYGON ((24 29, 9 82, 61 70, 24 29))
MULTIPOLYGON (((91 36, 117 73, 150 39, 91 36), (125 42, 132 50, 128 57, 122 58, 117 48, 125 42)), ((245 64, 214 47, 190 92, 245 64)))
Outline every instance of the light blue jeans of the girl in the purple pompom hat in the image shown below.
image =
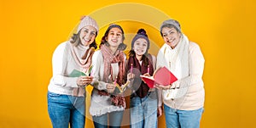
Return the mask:
POLYGON ((130 102, 131 128, 157 127, 157 97, 156 92, 148 92, 146 97, 131 95, 130 102))

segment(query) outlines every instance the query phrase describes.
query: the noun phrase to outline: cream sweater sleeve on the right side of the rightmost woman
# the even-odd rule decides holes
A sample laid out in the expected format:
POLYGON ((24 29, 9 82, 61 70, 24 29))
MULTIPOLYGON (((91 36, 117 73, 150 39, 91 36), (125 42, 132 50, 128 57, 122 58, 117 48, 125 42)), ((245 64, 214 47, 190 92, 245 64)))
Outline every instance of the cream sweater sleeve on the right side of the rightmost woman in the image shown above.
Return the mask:
POLYGON ((195 42, 189 42, 189 76, 174 82, 174 86, 183 88, 201 83, 204 63, 200 47, 195 42))

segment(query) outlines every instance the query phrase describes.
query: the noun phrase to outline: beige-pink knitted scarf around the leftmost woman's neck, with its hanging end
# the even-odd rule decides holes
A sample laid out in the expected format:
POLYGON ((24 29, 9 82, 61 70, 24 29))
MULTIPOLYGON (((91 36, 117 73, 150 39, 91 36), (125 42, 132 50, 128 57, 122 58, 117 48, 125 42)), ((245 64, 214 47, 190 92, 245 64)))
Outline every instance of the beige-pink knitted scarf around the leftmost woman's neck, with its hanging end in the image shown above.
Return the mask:
MULTIPOLYGON (((79 67, 81 67, 82 71, 85 73, 89 67, 90 67, 90 64, 91 64, 91 58, 92 58, 92 55, 93 53, 95 52, 95 48, 94 47, 90 47, 88 49, 84 49, 85 52, 84 52, 84 55, 82 58, 79 58, 79 48, 81 47, 75 47, 73 46, 71 43, 71 52, 72 52, 72 56, 76 62, 76 64, 79 65, 79 67)), ((84 87, 75 87, 73 88, 73 96, 84 96, 84 87)))

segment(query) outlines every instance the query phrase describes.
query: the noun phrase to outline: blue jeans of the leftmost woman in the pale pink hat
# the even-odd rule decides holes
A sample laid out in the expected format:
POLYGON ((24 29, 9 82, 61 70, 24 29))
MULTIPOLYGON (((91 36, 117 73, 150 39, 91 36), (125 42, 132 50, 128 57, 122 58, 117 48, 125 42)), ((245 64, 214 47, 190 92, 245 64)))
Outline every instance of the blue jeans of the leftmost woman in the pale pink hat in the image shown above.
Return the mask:
POLYGON ((48 113, 54 128, 84 128, 85 97, 48 92, 48 113))

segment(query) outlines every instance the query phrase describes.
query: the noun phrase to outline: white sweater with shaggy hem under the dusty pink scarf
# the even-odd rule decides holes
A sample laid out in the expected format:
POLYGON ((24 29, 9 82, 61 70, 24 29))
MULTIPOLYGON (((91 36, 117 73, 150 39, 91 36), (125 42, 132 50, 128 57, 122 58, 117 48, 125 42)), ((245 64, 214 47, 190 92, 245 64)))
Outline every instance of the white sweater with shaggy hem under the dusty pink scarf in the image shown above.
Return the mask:
MULTIPOLYGON (((124 110, 123 107, 112 105, 110 96, 102 96, 98 94, 98 90, 107 91, 107 84, 108 84, 107 82, 103 81, 104 59, 103 59, 101 50, 98 50, 93 54, 92 65, 93 65, 92 72, 93 72, 94 80, 91 85, 94 86, 94 89, 91 92, 90 110, 89 110, 90 114, 92 116, 100 116, 102 114, 111 113, 113 111, 124 110)), ((119 72, 118 64, 112 69, 113 69, 113 75, 117 75, 119 72)))

